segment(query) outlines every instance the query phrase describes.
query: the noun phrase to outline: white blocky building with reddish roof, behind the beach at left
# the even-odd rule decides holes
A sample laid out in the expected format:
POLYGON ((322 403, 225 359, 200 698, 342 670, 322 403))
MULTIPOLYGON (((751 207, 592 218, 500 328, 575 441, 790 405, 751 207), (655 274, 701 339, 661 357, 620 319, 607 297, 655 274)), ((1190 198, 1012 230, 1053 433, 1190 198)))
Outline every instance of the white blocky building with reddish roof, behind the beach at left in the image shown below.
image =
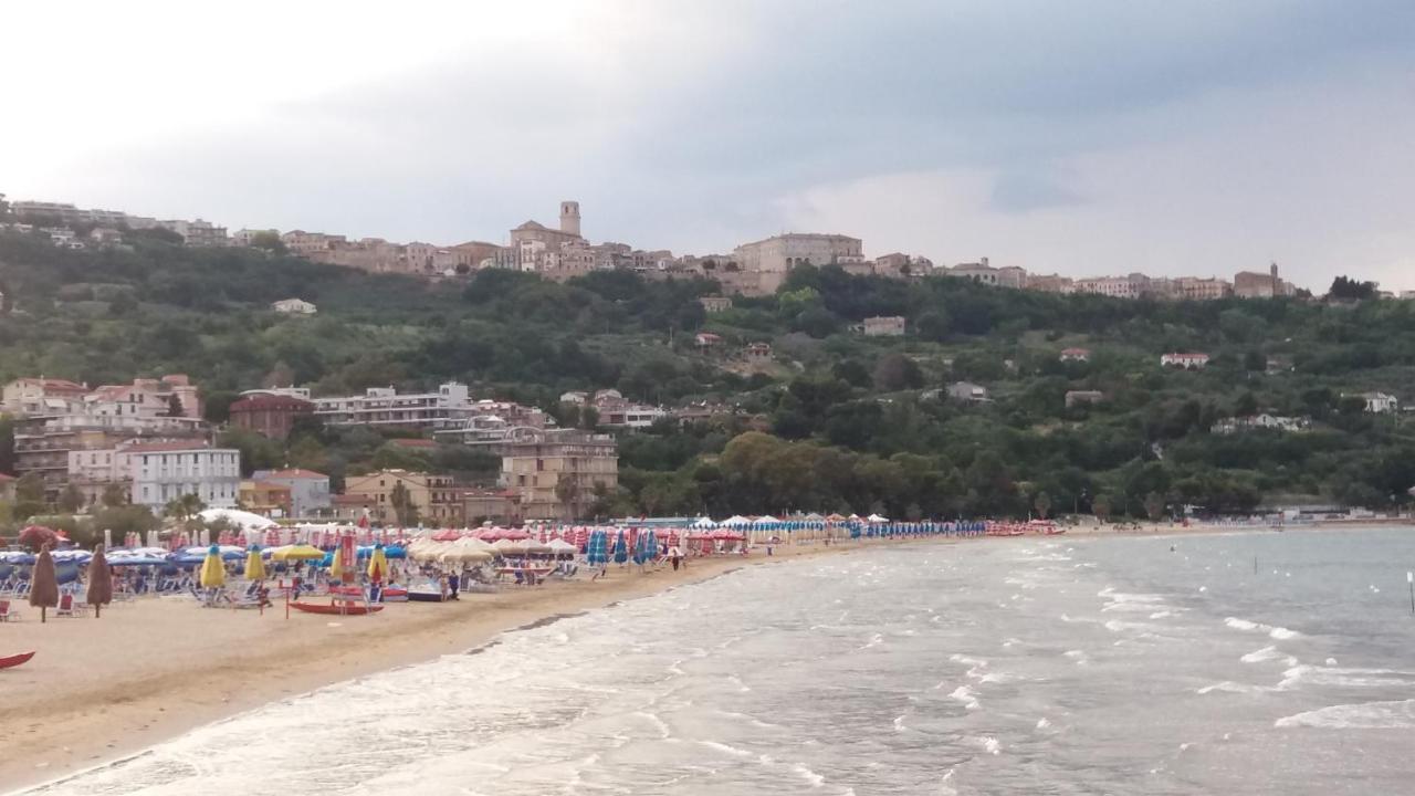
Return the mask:
POLYGON ((241 494, 241 452, 233 448, 127 445, 115 450, 113 469, 132 483, 132 503, 154 511, 184 494, 195 494, 209 508, 235 508, 241 494))

